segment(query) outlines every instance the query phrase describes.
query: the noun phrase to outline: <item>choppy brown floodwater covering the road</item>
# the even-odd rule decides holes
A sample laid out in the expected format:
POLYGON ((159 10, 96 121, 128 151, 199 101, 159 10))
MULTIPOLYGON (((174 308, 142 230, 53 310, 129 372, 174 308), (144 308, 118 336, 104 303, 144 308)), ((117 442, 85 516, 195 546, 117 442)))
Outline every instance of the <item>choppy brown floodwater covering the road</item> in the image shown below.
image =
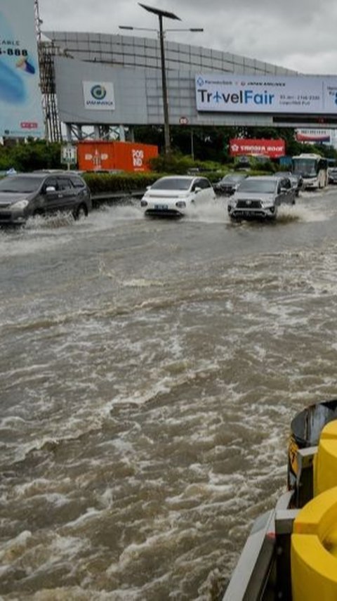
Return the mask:
POLYGON ((219 600, 337 396, 337 189, 0 231, 0 595, 219 600))

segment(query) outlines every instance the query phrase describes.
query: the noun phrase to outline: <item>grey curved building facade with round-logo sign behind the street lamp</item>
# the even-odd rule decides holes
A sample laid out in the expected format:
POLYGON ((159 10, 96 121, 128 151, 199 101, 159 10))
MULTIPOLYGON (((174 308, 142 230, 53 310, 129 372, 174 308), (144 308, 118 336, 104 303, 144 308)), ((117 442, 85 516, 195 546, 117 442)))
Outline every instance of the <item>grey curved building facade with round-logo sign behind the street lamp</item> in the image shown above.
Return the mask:
MULTIPOLYGON (((81 32, 44 32, 42 52, 53 56, 49 91, 67 137, 125 132, 164 122, 159 39, 81 32), (105 97, 103 98, 103 94, 105 97), (93 97, 93 94, 95 97, 93 97)), ((197 110, 198 74, 296 76, 296 72, 228 52, 165 39, 169 122, 190 126, 273 126, 272 115, 197 110)), ((51 111, 51 112, 54 112, 51 111)), ((54 115, 55 119, 55 115, 54 115)))

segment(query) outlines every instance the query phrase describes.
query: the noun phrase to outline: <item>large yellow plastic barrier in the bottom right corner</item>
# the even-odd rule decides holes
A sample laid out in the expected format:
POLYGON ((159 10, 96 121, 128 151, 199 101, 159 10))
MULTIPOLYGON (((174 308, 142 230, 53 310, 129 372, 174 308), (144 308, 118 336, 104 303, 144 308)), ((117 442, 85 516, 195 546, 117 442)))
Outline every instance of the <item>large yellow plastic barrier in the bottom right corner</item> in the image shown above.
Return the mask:
POLYGON ((307 503, 291 535, 293 601, 337 600, 337 486, 307 503))

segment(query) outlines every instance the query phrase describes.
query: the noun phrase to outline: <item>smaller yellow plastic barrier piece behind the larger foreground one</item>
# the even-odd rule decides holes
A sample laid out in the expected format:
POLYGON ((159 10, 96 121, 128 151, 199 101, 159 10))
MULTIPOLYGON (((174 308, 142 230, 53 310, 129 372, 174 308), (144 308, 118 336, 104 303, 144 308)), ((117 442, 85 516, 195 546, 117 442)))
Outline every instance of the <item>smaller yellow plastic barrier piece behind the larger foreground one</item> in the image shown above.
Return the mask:
POLYGON ((314 458, 314 496, 337 486, 337 420, 324 426, 314 458))

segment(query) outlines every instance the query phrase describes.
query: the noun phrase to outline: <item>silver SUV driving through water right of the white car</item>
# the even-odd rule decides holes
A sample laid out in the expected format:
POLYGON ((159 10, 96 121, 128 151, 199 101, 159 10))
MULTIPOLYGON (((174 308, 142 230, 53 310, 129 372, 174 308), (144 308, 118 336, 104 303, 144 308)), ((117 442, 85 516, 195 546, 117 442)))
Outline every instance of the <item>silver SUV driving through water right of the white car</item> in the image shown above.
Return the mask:
POLYGON ((295 205, 289 177, 251 176, 240 183, 228 200, 231 219, 275 219, 279 205, 295 205))

